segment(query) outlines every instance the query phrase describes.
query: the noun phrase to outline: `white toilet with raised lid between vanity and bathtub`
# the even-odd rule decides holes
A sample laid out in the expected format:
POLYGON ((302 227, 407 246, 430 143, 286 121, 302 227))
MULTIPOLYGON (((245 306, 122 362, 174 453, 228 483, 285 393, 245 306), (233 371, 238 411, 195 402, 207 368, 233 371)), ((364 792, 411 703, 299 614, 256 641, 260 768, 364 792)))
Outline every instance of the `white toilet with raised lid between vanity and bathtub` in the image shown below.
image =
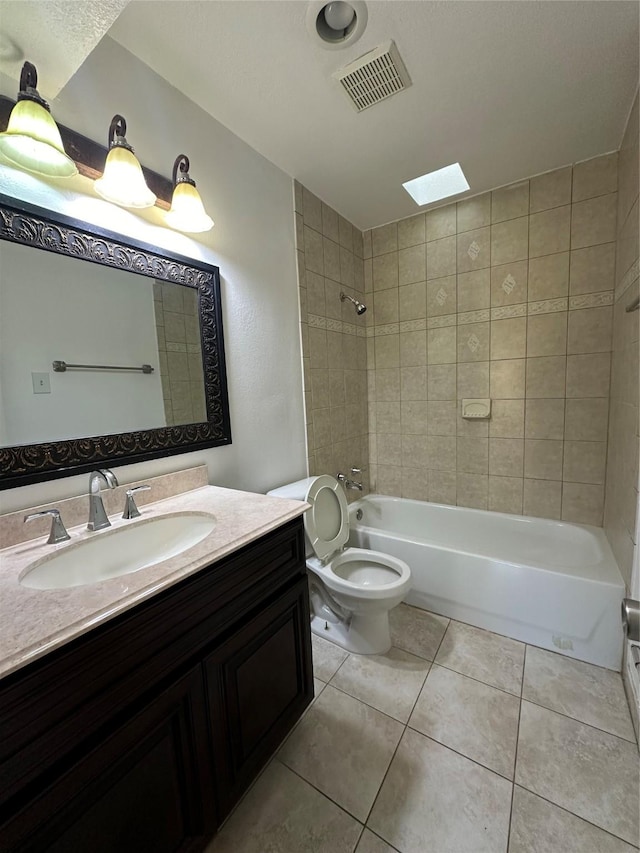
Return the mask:
POLYGON ((304 514, 311 630, 356 654, 389 651, 389 610, 409 591, 409 566, 380 551, 345 548, 349 511, 334 477, 307 477, 268 494, 311 504, 304 514))

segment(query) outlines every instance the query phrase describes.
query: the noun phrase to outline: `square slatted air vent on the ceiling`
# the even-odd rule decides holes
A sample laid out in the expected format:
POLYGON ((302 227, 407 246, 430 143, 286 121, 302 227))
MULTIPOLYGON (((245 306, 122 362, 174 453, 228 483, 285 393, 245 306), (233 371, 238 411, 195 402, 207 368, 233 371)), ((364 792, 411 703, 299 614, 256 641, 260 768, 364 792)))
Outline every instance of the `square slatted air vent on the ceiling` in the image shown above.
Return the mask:
POLYGON ((333 74, 358 110, 402 92, 411 85, 411 79, 392 41, 381 44, 359 59, 345 65, 333 74))

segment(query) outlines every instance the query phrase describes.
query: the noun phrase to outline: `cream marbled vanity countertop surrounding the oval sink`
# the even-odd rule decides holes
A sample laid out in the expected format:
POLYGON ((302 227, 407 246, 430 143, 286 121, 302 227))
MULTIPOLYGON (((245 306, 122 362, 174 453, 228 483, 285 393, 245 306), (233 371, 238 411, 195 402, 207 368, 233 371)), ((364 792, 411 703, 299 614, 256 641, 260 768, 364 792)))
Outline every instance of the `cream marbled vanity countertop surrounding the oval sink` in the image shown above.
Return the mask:
POLYGON ((70 528, 71 541, 60 545, 48 545, 38 538, 5 548, 0 551, 0 676, 221 560, 301 515, 307 507, 300 501, 203 486, 141 506, 141 517, 133 521, 125 521, 119 514, 111 516, 112 526, 106 530, 70 528), (56 551, 73 548, 90 537, 108 536, 125 525, 180 512, 210 513, 216 525, 205 539, 171 559, 132 574, 68 589, 29 589, 18 581, 28 566, 56 551))

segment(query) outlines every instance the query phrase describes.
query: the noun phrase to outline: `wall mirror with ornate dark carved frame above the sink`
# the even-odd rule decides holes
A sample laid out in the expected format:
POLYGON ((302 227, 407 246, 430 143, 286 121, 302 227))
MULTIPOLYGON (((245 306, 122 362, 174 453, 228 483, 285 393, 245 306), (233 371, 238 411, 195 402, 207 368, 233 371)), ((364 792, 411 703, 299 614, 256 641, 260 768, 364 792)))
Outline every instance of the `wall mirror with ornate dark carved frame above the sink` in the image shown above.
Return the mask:
POLYGON ((0 195, 0 488, 230 442, 218 268, 0 195))

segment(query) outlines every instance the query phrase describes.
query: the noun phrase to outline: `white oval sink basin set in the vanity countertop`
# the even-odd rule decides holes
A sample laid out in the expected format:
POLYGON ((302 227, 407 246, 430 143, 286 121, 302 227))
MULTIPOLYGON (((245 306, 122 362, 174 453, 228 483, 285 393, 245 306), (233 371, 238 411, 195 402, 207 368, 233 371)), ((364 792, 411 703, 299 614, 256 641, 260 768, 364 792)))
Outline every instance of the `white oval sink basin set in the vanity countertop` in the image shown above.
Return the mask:
POLYGON ((65 589, 129 575, 189 550, 215 527, 212 515, 182 513, 132 522, 62 548, 20 576, 31 589, 65 589))

